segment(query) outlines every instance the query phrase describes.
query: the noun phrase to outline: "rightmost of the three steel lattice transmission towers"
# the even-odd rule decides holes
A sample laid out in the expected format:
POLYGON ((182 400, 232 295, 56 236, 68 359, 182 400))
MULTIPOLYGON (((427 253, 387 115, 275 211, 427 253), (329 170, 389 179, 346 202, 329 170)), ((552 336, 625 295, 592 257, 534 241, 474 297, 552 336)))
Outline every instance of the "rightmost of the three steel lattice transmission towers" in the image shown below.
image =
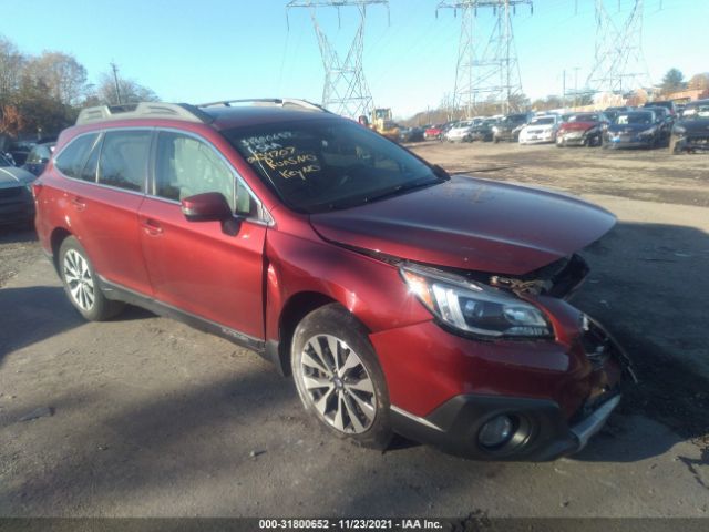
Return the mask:
POLYGON ((650 75, 643 54, 643 0, 634 0, 620 24, 606 10, 604 0, 595 2, 596 55, 586 85, 595 92, 619 94, 648 86, 650 75))

